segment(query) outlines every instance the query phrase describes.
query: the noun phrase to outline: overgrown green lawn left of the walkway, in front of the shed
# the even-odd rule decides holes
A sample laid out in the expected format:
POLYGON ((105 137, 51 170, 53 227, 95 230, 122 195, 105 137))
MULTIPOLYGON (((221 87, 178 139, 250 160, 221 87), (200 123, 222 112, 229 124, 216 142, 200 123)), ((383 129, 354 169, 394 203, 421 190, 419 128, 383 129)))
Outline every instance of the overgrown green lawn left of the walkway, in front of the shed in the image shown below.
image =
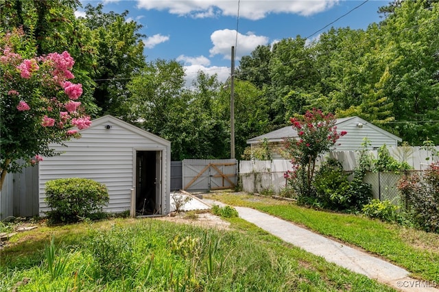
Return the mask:
POLYGON ((41 225, 1 250, 1 291, 394 291, 229 220, 231 230, 156 219, 41 225))

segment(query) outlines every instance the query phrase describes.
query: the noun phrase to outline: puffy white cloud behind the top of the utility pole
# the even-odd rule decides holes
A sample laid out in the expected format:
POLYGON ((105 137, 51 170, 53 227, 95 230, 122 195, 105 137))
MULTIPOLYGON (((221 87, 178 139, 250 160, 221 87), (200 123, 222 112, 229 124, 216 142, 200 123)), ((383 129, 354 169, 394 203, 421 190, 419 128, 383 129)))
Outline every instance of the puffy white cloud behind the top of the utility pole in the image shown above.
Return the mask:
POLYGON ((250 54, 257 46, 267 45, 267 36, 256 36, 252 33, 236 34, 235 29, 221 29, 211 34, 213 47, 209 50, 211 56, 224 55, 224 59, 231 60, 231 47, 236 46, 236 59, 239 60, 241 56, 250 54))

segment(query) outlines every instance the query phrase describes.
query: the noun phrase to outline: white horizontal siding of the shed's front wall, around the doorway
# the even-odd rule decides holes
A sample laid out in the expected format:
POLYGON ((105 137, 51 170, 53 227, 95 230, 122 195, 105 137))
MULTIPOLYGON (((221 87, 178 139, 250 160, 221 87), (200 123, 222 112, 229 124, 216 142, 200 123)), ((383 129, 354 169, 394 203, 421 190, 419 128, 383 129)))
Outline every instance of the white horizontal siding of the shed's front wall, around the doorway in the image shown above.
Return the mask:
MULTIPOLYGON (((131 188, 134 185, 135 150, 163 151, 163 160, 170 154, 166 145, 140 136, 137 133, 112 125, 88 128, 81 132, 82 137, 65 143, 67 147, 54 145, 62 153, 60 156, 45 158, 40 162, 39 204, 40 213, 49 210, 45 203, 45 183, 58 178, 88 178, 106 184, 110 202, 107 212, 122 212, 130 209, 131 188)), ((169 167, 163 163, 162 199, 167 200, 167 180, 169 167)), ((162 202, 163 212, 167 204, 162 202)))

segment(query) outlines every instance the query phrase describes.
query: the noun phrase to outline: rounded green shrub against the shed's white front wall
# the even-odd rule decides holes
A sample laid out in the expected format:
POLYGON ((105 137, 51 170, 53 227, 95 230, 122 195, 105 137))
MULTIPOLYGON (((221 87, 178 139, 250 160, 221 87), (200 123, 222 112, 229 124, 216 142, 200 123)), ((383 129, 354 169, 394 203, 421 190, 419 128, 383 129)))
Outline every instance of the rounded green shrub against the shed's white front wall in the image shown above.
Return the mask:
POLYGON ((45 202, 51 209, 51 222, 71 223, 81 219, 102 217, 102 207, 108 201, 104 184, 85 178, 62 178, 46 183, 45 202))

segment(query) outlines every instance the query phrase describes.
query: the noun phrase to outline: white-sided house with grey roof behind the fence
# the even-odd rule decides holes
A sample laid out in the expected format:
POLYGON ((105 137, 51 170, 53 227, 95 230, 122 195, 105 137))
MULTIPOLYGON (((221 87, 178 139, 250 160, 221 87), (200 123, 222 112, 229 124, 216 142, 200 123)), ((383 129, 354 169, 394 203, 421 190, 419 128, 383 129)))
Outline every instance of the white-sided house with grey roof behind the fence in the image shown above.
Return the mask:
MULTIPOLYGON (((348 134, 340 137, 335 147, 336 151, 355 151, 362 148, 364 138, 368 138, 371 145, 370 149, 378 149, 382 145, 388 147, 397 147, 398 142, 402 139, 390 132, 387 132, 364 119, 359 117, 347 117, 342 119, 337 119, 335 125, 337 126, 337 131, 346 131, 348 134)), ((272 159, 283 159, 280 154, 280 150, 283 147, 283 141, 285 138, 298 138, 296 130, 293 129, 291 125, 287 127, 282 127, 281 129, 263 134, 251 138, 247 141, 250 147, 261 147, 261 143, 264 138, 267 139, 268 145, 272 149, 272 159)))

